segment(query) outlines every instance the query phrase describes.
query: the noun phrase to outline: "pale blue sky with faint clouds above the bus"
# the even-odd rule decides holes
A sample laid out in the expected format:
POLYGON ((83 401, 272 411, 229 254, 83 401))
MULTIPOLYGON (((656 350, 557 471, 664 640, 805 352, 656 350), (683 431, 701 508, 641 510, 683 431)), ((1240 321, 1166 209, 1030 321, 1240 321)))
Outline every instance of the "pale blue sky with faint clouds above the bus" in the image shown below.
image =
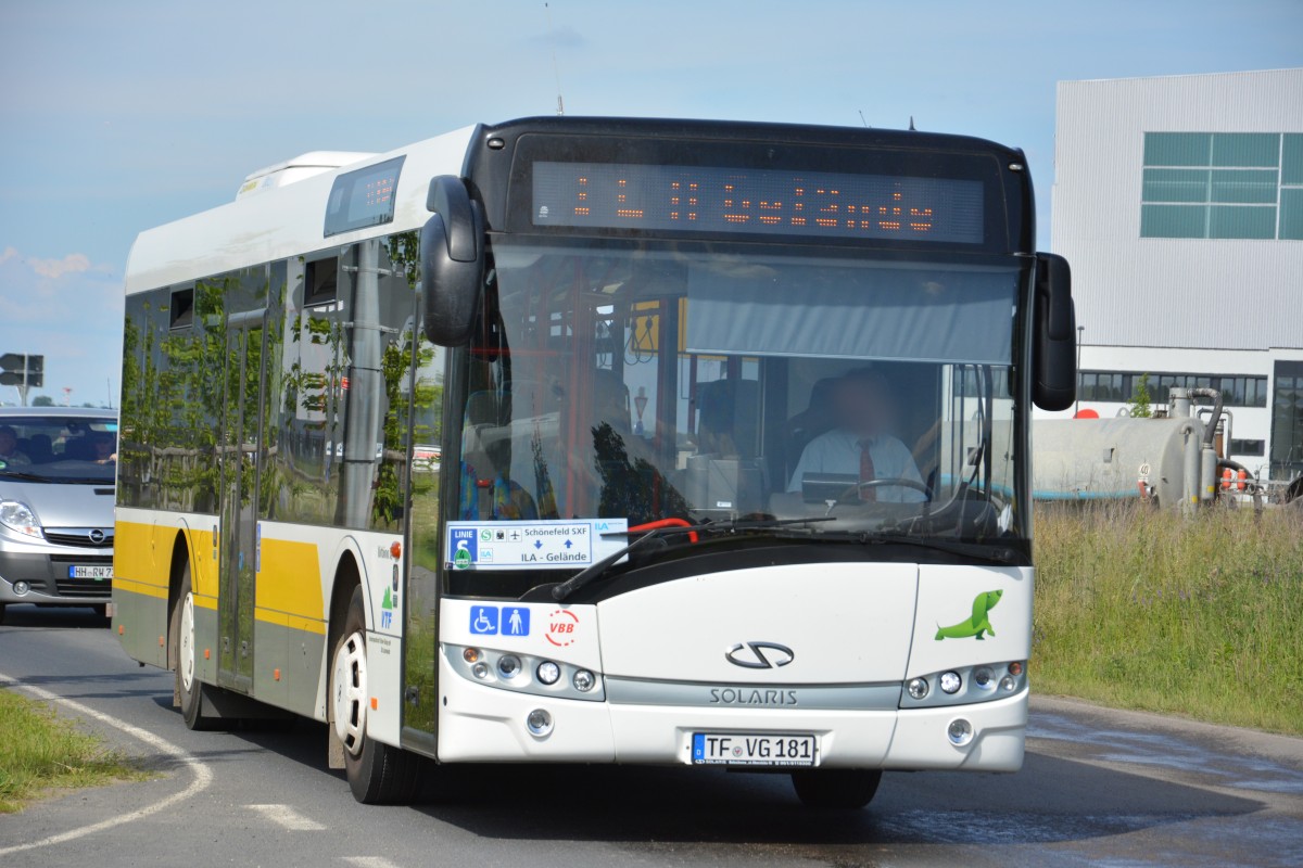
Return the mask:
POLYGON ((1303 0, 0 0, 0 353, 46 357, 29 402, 116 406, 137 233, 306 151, 550 115, 558 79, 568 115, 1022 147, 1048 249, 1057 82, 1293 66, 1303 0))

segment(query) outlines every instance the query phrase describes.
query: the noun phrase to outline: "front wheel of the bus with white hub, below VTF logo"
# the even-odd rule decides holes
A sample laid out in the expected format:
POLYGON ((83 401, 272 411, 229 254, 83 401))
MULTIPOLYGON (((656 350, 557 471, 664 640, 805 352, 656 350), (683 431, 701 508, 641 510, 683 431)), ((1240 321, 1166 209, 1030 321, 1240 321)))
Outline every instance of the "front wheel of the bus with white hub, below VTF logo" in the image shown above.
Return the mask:
POLYGON ((331 725, 344 743, 344 772, 362 804, 405 804, 416 795, 420 757, 366 735, 366 610, 354 587, 331 653, 331 725))

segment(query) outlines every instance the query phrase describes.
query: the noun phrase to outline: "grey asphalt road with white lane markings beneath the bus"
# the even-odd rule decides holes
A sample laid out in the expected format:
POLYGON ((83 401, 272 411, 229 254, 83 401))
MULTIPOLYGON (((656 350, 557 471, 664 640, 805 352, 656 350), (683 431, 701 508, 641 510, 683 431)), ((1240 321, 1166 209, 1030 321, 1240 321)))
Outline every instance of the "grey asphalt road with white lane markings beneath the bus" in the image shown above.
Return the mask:
POLYGON ((186 730, 171 673, 90 610, 9 609, 5 678, 160 772, 0 816, 5 868, 1303 865, 1303 739, 1063 700, 1033 700, 1020 773, 887 773, 864 811, 807 811, 783 776, 605 766, 442 766, 371 808, 321 725, 186 730))

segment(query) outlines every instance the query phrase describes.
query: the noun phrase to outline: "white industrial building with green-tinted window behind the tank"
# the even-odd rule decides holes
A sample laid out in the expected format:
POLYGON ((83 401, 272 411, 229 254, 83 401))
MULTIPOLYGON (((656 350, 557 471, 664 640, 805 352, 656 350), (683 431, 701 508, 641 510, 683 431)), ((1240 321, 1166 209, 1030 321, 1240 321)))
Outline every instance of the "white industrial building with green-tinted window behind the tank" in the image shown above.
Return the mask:
POLYGON ((1217 388, 1235 461, 1303 472, 1303 69, 1059 82, 1057 113, 1080 409, 1217 388))

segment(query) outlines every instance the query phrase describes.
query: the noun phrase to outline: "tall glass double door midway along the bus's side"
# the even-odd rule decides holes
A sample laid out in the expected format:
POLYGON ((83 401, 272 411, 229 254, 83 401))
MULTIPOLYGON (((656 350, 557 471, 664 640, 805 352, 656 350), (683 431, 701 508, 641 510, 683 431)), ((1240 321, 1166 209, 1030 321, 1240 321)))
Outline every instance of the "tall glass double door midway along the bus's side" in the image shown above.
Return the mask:
POLYGON ((227 321, 225 384, 219 433, 218 683, 253 688, 253 609, 258 574, 257 491, 263 449, 266 310, 227 321))

